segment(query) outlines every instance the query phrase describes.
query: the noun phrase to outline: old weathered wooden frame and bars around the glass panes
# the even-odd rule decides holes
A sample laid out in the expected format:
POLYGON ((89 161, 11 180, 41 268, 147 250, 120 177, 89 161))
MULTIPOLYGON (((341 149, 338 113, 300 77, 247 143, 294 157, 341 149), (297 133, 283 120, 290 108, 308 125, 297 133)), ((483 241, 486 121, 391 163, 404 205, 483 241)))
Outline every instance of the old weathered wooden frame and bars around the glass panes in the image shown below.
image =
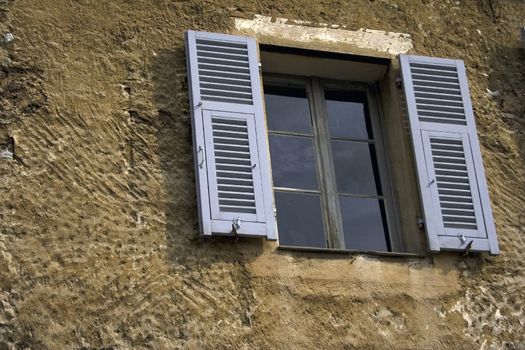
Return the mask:
MULTIPOLYGON (((319 179, 319 191, 297 190, 285 187, 273 187, 274 192, 299 192, 299 193, 319 193, 321 196, 321 210, 323 215, 323 225, 325 231, 326 248, 298 247, 279 245, 280 248, 293 248, 304 250, 327 250, 327 251, 357 251, 345 248, 345 238, 343 233, 343 221, 339 206, 339 195, 335 181, 335 168, 330 146, 330 136, 328 132, 328 115, 324 91, 328 89, 351 90, 364 92, 367 99, 367 108, 372 126, 373 143, 376 151, 376 161, 379 171, 379 179, 382 187, 382 195, 356 195, 352 197, 374 198, 383 200, 386 212, 386 239, 388 252, 402 252, 401 237, 399 234, 399 223, 397 215, 397 205, 392 191, 389 162, 386 155, 382 113, 380 108, 379 91, 375 84, 358 83, 344 80, 333 80, 319 77, 301 77, 275 73, 263 74, 263 85, 301 87, 306 88, 306 95, 310 107, 310 117, 312 121, 312 133, 314 140, 314 151, 316 157, 316 167, 319 179)), ((305 136, 301 133, 280 132, 268 130, 269 135, 295 135, 305 136)), ((352 141, 351 138, 344 140, 352 141)), ((365 142, 362 139, 354 141, 365 142)))

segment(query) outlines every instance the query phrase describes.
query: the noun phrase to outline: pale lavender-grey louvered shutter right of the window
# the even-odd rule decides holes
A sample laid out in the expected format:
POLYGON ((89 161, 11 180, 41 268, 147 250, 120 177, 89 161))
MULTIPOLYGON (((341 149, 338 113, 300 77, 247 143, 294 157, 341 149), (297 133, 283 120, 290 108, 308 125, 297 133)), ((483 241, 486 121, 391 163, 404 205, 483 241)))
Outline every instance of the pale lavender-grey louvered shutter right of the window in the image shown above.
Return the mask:
POLYGON ((463 61, 400 60, 430 250, 499 254, 463 61))

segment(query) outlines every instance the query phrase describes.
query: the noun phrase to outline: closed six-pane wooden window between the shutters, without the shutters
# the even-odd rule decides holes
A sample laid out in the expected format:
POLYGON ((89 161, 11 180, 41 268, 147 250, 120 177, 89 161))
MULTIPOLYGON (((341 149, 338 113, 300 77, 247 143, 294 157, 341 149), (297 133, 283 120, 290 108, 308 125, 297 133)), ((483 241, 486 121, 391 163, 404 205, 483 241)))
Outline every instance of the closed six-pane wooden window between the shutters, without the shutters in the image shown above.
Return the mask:
POLYGON ((395 212, 368 86, 264 76, 264 95, 279 244, 390 251, 395 212))

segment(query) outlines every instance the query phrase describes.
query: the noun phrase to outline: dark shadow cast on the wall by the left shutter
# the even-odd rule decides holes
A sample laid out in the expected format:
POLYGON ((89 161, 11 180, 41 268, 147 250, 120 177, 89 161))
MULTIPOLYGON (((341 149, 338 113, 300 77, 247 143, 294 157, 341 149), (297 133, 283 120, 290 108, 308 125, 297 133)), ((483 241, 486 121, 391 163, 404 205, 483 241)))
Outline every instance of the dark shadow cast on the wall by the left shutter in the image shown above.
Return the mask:
POLYGON ((157 54, 152 67, 158 111, 157 153, 164 181, 168 259, 201 266, 247 263, 262 253, 261 239, 204 238, 199 234, 195 168, 184 48, 157 54))

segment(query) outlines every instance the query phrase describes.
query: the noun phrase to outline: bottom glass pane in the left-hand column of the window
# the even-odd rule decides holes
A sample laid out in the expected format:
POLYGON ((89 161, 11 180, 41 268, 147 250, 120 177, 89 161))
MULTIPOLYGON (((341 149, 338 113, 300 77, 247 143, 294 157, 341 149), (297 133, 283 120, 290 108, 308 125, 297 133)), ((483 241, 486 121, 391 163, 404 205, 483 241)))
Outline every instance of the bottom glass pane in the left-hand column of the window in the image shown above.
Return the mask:
POLYGON ((279 244, 326 248, 318 194, 275 192, 279 244))

